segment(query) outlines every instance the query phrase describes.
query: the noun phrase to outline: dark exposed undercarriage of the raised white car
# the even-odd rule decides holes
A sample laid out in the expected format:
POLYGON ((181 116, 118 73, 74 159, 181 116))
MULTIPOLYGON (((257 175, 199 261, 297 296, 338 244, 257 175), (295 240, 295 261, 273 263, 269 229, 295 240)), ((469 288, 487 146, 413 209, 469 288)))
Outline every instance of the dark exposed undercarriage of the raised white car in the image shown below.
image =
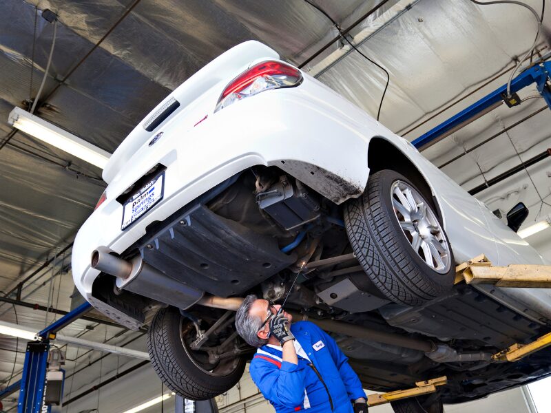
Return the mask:
POLYGON ((373 390, 446 375, 441 399, 460 403, 551 368, 551 350, 514 364, 490 362, 488 354, 550 330, 499 304, 493 290, 458 284, 421 305, 393 302, 355 257, 342 208, 275 167, 247 169, 222 182, 150 225, 121 258, 150 271, 132 271, 123 282, 103 273, 94 283, 96 298, 111 297, 111 307, 141 322, 160 307, 179 308, 171 317, 183 320, 184 347, 203 372, 225 372, 227 363, 250 359, 253 351, 234 332, 233 313, 202 305, 205 297, 249 293, 271 301, 289 294, 286 308, 333 332, 373 390))

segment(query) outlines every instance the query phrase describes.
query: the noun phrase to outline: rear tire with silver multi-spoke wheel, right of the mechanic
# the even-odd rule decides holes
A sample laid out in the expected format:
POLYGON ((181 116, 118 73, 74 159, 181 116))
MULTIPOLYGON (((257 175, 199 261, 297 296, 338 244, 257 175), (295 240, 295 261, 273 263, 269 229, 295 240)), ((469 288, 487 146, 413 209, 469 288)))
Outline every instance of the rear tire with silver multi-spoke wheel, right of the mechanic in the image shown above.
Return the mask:
POLYGON ((419 306, 453 286, 453 254, 433 202, 396 171, 369 176, 362 197, 346 204, 344 223, 360 265, 391 301, 419 306))

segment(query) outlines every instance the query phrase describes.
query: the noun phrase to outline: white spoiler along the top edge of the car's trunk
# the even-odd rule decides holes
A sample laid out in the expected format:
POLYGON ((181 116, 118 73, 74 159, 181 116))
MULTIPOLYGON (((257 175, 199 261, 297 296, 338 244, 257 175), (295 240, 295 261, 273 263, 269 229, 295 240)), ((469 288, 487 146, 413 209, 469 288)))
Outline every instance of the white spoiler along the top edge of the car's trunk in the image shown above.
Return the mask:
MULTIPOLYGON (((202 69, 188 78, 187 81, 174 89, 171 94, 156 105, 156 107, 136 125, 134 130, 130 132, 121 145, 118 146, 116 151, 114 151, 109 162, 107 162, 105 169, 103 169, 103 180, 109 184, 121 170, 121 167, 132 158, 134 153, 136 153, 136 151, 141 148, 156 131, 158 131, 158 127, 165 123, 166 119, 152 131, 146 131, 143 127, 144 123, 152 118, 155 112, 169 102, 169 100, 174 98, 179 103, 178 108, 171 114, 171 116, 174 116, 174 114, 185 109, 185 107, 194 102, 194 100, 220 81, 236 74, 251 62, 263 58, 280 59, 280 56, 275 50, 258 41, 246 41, 220 54, 220 56, 205 65, 205 67, 202 67, 202 69)), ((171 116, 168 118, 171 118, 171 116)))

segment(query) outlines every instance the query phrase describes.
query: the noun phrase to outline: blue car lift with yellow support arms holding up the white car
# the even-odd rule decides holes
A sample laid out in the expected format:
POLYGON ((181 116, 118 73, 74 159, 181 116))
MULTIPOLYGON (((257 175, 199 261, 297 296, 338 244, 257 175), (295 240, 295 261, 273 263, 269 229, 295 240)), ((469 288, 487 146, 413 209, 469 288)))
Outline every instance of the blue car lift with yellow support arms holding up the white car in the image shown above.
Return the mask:
MULTIPOLYGON (((528 67, 512 80, 510 96, 507 96, 507 85, 503 85, 459 112, 459 114, 449 118, 444 123, 426 132, 426 134, 419 136, 419 138, 413 140, 412 144, 417 149, 426 149, 430 145, 461 129, 461 127, 466 126, 472 120, 499 107, 503 102, 509 107, 519 105, 521 102, 517 96, 517 92, 524 87, 532 85, 532 83, 536 84, 539 94, 541 94, 545 103, 551 108, 550 73, 551 61, 541 59, 541 61, 534 63, 534 65, 528 67)), ((457 284, 457 282, 463 281, 466 281, 468 284, 495 284, 501 287, 550 288, 551 266, 511 265, 508 267, 494 267, 484 255, 481 255, 457 266, 455 282, 457 284)), ((23 365, 23 378, 21 381, 13 383, 8 388, 2 390, 0 392, 0 399, 2 396, 14 392, 21 386, 17 412, 43 412, 50 340, 56 337, 57 331, 91 309, 92 306, 90 304, 82 304, 48 328, 39 332, 37 340, 28 343, 25 363, 23 365)), ((495 361, 517 361, 528 354, 532 354, 532 352, 550 345, 551 333, 526 345, 514 344, 501 352, 497 352, 492 358, 495 361)), ((446 384, 446 381, 446 377, 439 377, 437 379, 419 381, 415 383, 415 388, 408 390, 397 390, 385 394, 371 394, 368 396, 368 405, 375 406, 407 397, 432 393, 437 390, 437 386, 446 384)), ((45 411, 50 412, 50 408, 48 407, 48 410, 45 411)))

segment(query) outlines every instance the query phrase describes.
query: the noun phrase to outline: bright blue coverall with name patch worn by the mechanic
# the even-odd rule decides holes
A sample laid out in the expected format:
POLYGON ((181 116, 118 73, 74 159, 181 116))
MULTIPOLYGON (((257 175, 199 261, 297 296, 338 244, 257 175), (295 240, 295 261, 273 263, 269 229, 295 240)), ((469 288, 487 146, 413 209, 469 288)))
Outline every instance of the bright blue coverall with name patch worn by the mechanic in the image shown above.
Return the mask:
POLYGON ((300 356, 298 365, 282 361, 282 350, 262 346, 250 367, 260 392, 278 413, 353 413, 351 402, 366 394, 335 340, 309 321, 291 324, 291 332, 311 361, 300 356))

